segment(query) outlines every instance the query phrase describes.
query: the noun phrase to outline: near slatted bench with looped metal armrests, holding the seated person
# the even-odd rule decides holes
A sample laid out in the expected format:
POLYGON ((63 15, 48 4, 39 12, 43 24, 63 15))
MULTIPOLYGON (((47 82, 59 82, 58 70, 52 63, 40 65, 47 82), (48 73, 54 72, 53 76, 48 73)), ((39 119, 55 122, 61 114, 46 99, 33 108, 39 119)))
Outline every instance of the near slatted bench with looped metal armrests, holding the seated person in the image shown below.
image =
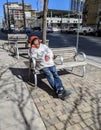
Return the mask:
MULTIPOLYGON (((86 55, 83 52, 77 53, 75 47, 65 48, 51 48, 54 54, 54 62, 57 70, 64 70, 66 68, 82 67, 82 77, 85 76, 86 70, 86 55)), ((31 58, 29 49, 29 79, 31 71, 34 75, 35 86, 37 86, 37 74, 40 72, 36 69, 36 60, 31 58)))

